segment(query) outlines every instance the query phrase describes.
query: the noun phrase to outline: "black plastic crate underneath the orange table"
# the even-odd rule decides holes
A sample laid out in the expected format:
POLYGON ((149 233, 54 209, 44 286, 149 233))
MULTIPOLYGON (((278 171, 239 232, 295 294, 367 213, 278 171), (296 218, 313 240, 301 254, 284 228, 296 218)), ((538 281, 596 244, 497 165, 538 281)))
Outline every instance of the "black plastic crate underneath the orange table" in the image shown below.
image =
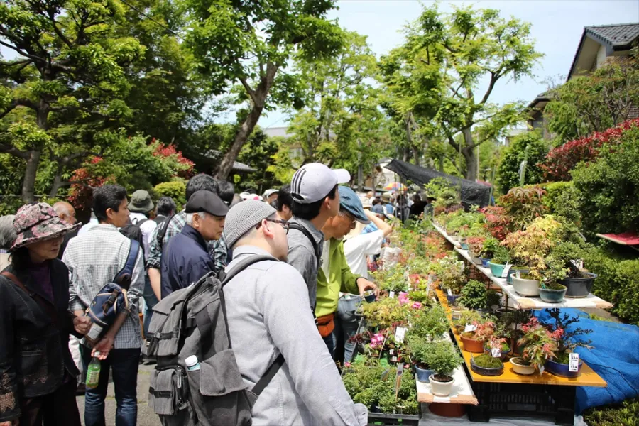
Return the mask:
POLYGON ((574 423, 574 386, 526 383, 472 384, 479 405, 468 410, 471 422, 488 422, 492 415, 554 417, 555 425, 574 423))

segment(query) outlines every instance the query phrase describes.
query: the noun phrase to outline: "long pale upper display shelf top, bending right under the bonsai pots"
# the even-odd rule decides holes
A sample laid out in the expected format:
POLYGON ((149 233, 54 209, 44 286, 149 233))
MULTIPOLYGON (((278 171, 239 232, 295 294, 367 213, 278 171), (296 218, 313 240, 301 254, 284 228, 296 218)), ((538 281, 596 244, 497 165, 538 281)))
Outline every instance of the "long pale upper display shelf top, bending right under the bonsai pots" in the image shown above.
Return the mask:
POLYGON ((587 295, 586 297, 581 298, 566 297, 561 303, 547 303, 541 300, 539 297, 525 297, 519 295, 512 285, 506 283, 506 278, 499 278, 494 276, 491 273, 491 268, 485 268, 484 266, 475 265, 471 259, 470 253, 467 250, 462 250, 460 244, 457 241, 451 239, 446 231, 442 229, 442 227, 437 226, 437 224, 435 223, 433 223, 433 226, 435 226, 435 229, 439 231, 439 234, 442 234, 442 236, 444 236, 444 238, 454 246, 454 251, 457 251, 460 256, 466 259, 466 261, 477 268, 477 270, 481 271, 481 273, 486 275, 486 277, 488 277, 493 283, 501 288, 501 290, 503 290, 504 295, 508 297, 508 300, 510 300, 510 303, 508 305, 515 307, 515 309, 552 309, 553 307, 599 307, 601 309, 608 309, 613 306, 610 302, 606 302, 606 300, 600 299, 592 293, 589 293, 589 295, 587 295))

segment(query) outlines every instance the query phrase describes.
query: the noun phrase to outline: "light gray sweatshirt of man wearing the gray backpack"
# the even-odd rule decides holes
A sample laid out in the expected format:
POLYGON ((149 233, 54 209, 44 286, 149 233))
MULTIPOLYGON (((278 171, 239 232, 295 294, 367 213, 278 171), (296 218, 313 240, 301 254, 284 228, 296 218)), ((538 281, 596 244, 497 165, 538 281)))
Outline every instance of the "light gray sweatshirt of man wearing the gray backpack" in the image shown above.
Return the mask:
MULTIPOLYGON (((238 247, 227 271, 255 254, 268 253, 238 247)), ((285 359, 253 406, 253 425, 366 425, 366 408, 346 392, 295 268, 254 263, 224 285, 224 299, 231 347, 249 388, 280 353, 285 359)))

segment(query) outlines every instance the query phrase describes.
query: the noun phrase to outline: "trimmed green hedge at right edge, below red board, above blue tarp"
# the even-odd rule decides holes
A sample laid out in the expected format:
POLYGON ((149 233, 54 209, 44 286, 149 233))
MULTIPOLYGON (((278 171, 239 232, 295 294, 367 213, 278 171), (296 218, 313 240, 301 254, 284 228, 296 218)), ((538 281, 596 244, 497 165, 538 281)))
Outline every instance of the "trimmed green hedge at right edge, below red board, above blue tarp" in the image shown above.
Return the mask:
POLYGON ((603 249, 584 251, 584 266, 596 273, 592 293, 611 302, 611 312, 639 325, 639 259, 623 260, 603 249))

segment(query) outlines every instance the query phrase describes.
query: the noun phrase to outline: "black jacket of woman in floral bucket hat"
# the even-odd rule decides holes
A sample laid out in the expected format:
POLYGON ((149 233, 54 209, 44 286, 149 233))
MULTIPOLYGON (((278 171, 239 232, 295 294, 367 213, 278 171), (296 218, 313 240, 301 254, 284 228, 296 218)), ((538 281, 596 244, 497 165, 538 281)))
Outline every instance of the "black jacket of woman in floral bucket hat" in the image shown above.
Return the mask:
MULTIPOLYGON (((0 275, 0 422, 20 417, 21 398, 59 388, 65 371, 72 378, 79 374, 69 351, 69 334, 76 334, 69 312, 69 271, 58 259, 50 262, 54 303, 47 303, 55 307, 55 323, 33 297, 0 275)), ((13 266, 5 271, 47 300, 31 273, 13 266)))

